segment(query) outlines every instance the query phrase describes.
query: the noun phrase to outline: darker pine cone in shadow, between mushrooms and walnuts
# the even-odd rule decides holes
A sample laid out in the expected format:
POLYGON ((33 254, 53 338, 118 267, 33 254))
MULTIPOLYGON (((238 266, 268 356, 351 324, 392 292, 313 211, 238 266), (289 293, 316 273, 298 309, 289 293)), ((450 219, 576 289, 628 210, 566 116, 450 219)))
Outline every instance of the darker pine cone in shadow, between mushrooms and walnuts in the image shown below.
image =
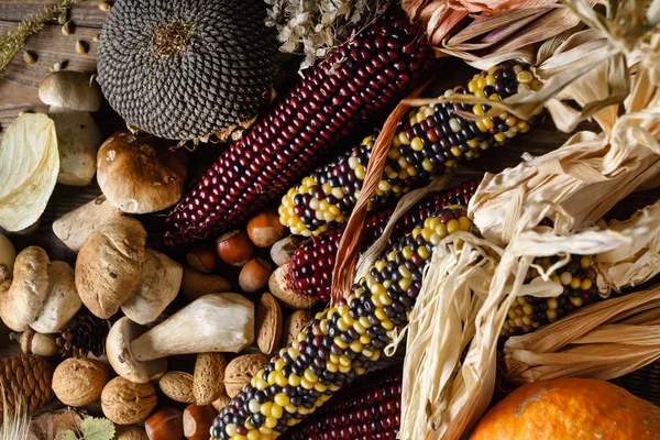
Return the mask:
POLYGON ((63 358, 86 358, 89 353, 100 356, 106 352, 106 338, 110 321, 91 315, 78 315, 59 332, 57 345, 63 358))

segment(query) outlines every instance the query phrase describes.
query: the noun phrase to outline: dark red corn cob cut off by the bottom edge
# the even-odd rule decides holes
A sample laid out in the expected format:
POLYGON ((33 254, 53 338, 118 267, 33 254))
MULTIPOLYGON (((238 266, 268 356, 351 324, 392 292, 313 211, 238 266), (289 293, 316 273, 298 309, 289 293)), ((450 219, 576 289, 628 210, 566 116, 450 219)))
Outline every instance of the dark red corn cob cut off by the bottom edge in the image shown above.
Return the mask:
POLYGON ((369 373, 338 393, 283 440, 394 440, 400 427, 400 365, 369 373))

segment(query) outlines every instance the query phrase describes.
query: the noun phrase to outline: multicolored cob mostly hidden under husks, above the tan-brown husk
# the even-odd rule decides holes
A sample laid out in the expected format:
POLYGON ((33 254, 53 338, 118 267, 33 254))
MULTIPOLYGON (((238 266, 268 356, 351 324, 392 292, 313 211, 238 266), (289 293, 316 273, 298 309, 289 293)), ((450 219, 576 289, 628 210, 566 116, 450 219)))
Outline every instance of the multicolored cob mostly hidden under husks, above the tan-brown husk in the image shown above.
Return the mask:
MULTIPOLYGON (((534 264, 548 270, 558 261, 557 256, 544 256, 536 258, 534 264)), ((527 280, 537 276, 539 276, 537 270, 531 268, 527 280)), ((554 298, 518 297, 517 304, 509 309, 509 318, 504 323, 502 334, 509 337, 529 333, 543 324, 563 318, 580 307, 602 299, 598 295, 597 277, 591 256, 571 255, 571 262, 550 277, 563 286, 563 293, 554 298)))

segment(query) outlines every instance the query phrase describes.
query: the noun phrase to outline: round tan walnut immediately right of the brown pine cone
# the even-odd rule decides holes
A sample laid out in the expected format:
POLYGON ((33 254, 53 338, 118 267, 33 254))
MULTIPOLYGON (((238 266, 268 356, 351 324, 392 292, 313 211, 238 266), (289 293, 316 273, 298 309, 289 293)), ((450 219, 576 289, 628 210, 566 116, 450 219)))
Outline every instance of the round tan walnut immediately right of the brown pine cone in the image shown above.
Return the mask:
POLYGON ((63 404, 86 406, 101 397, 108 370, 91 359, 67 359, 55 369, 53 392, 63 404))

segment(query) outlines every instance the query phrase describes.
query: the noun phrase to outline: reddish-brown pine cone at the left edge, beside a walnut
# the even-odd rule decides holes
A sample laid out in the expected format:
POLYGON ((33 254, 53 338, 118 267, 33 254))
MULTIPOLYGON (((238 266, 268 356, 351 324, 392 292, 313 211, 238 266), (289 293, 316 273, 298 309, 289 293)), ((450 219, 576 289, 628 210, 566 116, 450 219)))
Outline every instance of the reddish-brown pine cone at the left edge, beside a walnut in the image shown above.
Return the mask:
MULTIPOLYGON (((0 360, 0 384, 9 413, 13 413, 16 405, 26 406, 28 411, 33 413, 51 402, 52 380, 53 366, 41 356, 19 354, 0 360)), ((0 400, 0 424, 2 409, 0 400)))

